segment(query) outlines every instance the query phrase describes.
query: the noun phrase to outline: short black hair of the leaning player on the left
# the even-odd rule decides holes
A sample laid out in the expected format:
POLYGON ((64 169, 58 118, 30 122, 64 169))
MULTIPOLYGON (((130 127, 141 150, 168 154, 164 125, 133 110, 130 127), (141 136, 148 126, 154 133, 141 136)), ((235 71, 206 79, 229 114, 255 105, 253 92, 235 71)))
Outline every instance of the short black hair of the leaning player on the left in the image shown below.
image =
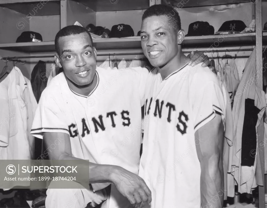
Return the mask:
POLYGON ((78 34, 81 34, 81 33, 84 33, 86 32, 89 37, 90 37, 90 40, 91 40, 91 44, 93 46, 93 40, 92 40, 92 36, 90 35, 90 33, 88 32, 87 29, 85 29, 84 27, 81 27, 81 26, 78 26, 78 25, 69 25, 67 27, 64 27, 62 28, 56 35, 56 38, 55 38, 55 48, 56 48, 56 52, 58 55, 61 55, 60 54, 60 49, 59 49, 59 45, 58 45, 58 40, 61 38, 61 37, 65 37, 65 36, 69 36, 69 35, 78 35, 78 34))

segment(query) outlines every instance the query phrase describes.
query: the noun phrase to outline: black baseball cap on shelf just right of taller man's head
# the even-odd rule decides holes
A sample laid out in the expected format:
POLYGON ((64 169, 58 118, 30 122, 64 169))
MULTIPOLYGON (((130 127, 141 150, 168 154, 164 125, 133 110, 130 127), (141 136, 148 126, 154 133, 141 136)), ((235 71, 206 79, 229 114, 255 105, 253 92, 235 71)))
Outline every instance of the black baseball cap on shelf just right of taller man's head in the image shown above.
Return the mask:
POLYGON ((196 21, 188 27, 186 36, 214 35, 214 27, 209 22, 196 21))

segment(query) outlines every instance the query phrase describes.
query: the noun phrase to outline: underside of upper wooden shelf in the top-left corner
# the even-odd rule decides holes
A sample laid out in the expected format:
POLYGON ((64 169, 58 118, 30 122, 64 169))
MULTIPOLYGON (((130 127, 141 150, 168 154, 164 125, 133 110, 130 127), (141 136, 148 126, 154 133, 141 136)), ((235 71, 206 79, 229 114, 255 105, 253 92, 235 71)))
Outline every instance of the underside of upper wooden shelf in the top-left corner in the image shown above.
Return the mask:
POLYGON ((28 16, 60 15, 60 1, 49 0, 41 3, 36 0, 1 0, 0 6, 28 16))

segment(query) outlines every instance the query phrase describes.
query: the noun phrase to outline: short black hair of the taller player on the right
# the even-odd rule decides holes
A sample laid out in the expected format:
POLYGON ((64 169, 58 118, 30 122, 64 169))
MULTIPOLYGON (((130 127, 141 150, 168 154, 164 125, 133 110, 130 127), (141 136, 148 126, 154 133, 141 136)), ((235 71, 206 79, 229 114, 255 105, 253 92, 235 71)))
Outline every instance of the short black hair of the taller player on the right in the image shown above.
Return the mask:
POLYGON ((142 16, 142 21, 147 17, 152 16, 161 16, 164 15, 168 18, 168 23, 175 29, 175 31, 179 31, 181 29, 181 20, 178 12, 171 8, 170 6, 156 4, 149 7, 142 16))

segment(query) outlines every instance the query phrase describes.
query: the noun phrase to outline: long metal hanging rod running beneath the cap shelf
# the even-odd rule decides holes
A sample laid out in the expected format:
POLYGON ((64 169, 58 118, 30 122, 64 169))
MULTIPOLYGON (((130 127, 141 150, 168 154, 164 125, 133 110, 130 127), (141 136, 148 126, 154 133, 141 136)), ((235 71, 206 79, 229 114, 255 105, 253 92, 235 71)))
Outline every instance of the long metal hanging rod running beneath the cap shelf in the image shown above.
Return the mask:
MULTIPOLYGON (((224 50, 199 50, 203 53, 213 53, 213 52, 232 52, 232 51, 252 51, 253 48, 239 48, 239 49, 224 49, 224 50)), ((191 50, 192 51, 192 50, 191 50)), ((191 51, 183 51, 184 53, 191 53, 191 51)), ((97 54, 97 56, 126 56, 126 55, 144 55, 143 52, 139 53, 109 53, 109 54, 97 54)), ((18 59, 27 59, 27 58, 53 58, 54 55, 46 55, 46 56, 14 56, 14 57, 1 57, 0 60, 11 60, 11 61, 18 61, 18 59)))

